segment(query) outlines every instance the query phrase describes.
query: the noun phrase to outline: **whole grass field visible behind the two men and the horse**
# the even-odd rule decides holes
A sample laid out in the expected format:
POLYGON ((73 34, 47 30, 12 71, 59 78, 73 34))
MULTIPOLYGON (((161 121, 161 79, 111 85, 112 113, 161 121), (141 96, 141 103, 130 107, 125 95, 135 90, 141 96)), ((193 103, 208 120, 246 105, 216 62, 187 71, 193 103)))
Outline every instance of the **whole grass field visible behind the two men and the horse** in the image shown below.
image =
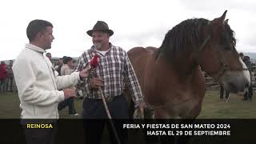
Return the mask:
MULTIPOLYGON (((241 99, 242 97, 231 94, 229 102, 226 103, 219 99, 218 89, 207 90, 198 118, 256 118, 255 98, 253 97, 253 102, 243 102, 241 99)), ((82 99, 75 100, 79 114, 82 112, 82 101, 82 99)), ((0 93, 0 118, 20 118, 19 103, 17 93, 0 93)), ((60 118, 81 118, 81 116, 70 116, 67 107, 59 114, 60 118)))

